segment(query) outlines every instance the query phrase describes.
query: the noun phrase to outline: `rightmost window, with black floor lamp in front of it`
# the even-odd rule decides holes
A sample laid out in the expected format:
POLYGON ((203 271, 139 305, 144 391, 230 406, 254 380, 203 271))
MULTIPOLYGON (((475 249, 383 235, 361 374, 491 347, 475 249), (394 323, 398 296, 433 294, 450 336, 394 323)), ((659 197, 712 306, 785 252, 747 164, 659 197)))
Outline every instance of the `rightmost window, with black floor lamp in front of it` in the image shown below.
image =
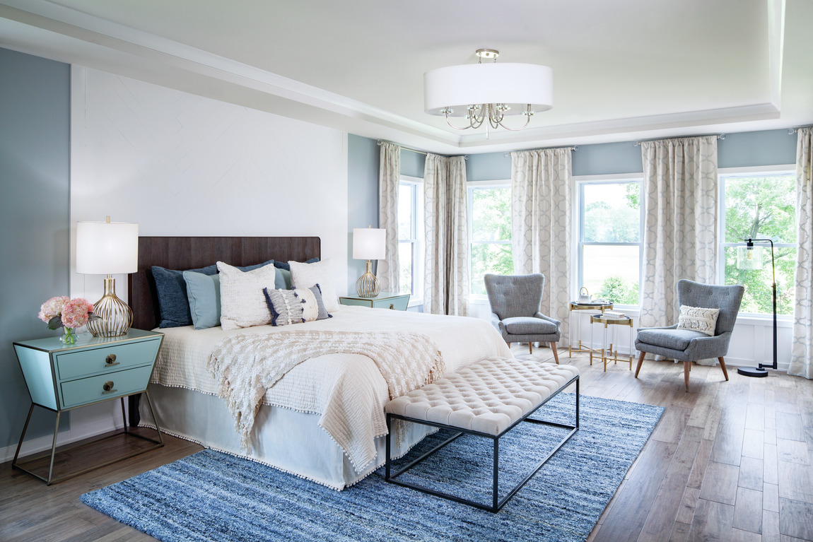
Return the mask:
POLYGON ((776 262, 776 314, 793 314, 796 271, 796 180, 789 171, 720 174, 720 282, 742 284, 741 313, 773 314, 771 245, 761 254, 763 268, 737 268, 737 247, 746 239, 771 239, 776 262))

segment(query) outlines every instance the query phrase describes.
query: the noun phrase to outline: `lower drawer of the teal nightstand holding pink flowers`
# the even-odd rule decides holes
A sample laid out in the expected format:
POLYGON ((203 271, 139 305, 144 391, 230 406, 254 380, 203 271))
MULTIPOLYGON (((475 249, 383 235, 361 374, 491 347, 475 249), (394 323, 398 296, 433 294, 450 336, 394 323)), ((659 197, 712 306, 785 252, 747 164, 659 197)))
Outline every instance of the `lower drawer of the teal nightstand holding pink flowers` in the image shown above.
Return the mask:
POLYGON ((152 365, 147 365, 127 369, 126 371, 116 371, 108 375, 91 376, 86 379, 63 382, 60 384, 62 387, 62 406, 63 408, 71 408, 76 405, 142 392, 150 382, 151 374, 152 365))

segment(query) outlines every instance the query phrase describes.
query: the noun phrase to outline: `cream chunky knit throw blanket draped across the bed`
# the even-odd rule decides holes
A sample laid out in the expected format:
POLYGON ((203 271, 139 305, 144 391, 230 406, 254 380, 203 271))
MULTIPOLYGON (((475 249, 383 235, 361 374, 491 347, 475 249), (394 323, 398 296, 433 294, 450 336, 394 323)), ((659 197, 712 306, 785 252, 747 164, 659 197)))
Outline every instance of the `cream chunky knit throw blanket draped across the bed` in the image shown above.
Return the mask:
MULTIPOLYGON (((207 370, 220 383, 220 397, 234 416, 244 450, 251 449, 254 416, 267 389, 299 363, 332 353, 359 353, 372 359, 387 383, 390 399, 430 384, 444 371, 437 346, 420 333, 282 332, 228 336, 215 346, 207 370)), ((345 406, 348 405, 332 408, 345 406)), ((324 414, 347 419, 363 413, 324 414)))

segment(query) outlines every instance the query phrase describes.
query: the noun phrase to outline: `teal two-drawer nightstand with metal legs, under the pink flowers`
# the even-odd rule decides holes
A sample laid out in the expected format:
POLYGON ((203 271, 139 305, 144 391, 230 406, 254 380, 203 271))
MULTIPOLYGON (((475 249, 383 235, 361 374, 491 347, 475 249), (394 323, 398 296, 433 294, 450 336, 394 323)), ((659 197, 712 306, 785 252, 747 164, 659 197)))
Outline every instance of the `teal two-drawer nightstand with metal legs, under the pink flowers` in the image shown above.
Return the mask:
MULTIPOLYGON (((25 419, 23 434, 20 435, 20 443, 17 444, 17 451, 14 454, 11 466, 23 470, 29 475, 36 476, 50 485, 83 474, 88 470, 110 465, 113 462, 163 446, 163 438, 157 423, 159 440, 153 440, 128 431, 127 419, 124 416, 124 397, 136 393, 145 394, 147 405, 149 405, 150 412, 152 412, 152 403, 146 388, 150 382, 150 375, 152 375, 155 358, 158 356, 162 340, 163 333, 131 329, 124 336, 90 337, 77 341, 75 345, 63 345, 59 337, 15 342, 14 349, 17 353, 17 360, 20 362, 20 369, 23 370, 25 384, 28 386, 32 404, 28 410, 28 418, 25 419), (59 479, 54 479, 54 455, 60 415, 66 410, 92 405, 101 401, 111 401, 112 399, 121 401, 124 431, 119 434, 127 433, 130 436, 149 440, 155 445, 128 453, 124 457, 116 457, 79 472, 64 475, 59 479), (27 459, 22 464, 17 462, 34 405, 56 412, 54 441, 50 449, 50 465, 47 478, 37 475, 22 466, 46 456, 27 459)), ((153 418, 155 418, 154 415, 153 418)), ((105 438, 108 438, 108 436, 105 438)), ((87 444, 92 443, 80 445, 85 446, 87 444)))

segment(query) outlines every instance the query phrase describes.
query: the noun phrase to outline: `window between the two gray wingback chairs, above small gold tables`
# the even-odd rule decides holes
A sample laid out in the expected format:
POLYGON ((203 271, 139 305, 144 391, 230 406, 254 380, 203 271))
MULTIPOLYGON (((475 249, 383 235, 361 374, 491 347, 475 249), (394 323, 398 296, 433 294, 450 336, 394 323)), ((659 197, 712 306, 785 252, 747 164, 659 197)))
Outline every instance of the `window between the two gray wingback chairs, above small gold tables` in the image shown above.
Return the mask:
POLYGON ((578 284, 618 305, 639 303, 641 181, 583 181, 579 186, 578 284))

